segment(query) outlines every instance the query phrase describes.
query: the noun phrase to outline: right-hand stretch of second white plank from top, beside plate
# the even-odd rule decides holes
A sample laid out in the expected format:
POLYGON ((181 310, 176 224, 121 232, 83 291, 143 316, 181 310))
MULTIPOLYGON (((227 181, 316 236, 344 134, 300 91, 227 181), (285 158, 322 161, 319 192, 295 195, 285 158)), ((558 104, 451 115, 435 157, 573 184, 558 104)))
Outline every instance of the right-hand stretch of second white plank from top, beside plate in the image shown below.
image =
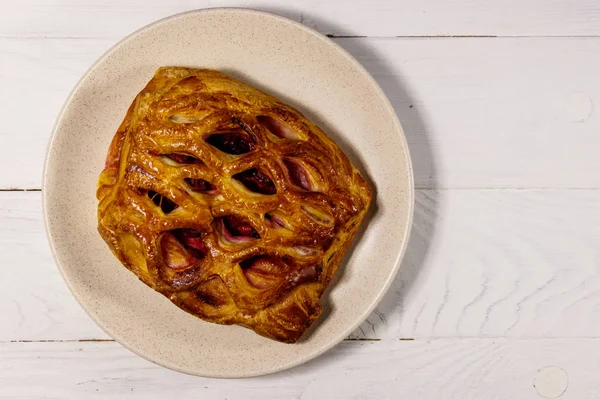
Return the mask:
POLYGON ((417 187, 600 185, 600 39, 338 43, 394 105, 417 187))

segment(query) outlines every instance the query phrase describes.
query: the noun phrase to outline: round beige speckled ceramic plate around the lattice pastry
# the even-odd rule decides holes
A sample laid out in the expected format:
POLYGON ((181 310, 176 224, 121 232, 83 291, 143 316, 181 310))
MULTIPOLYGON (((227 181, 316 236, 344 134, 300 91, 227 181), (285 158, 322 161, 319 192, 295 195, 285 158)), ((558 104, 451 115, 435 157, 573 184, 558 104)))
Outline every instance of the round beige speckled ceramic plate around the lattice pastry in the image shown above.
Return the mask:
POLYGON ((311 29, 242 9, 207 9, 158 21, 102 56, 58 116, 43 191, 56 262, 94 321, 148 360, 209 377, 280 371, 343 340, 394 278, 413 210, 404 134, 373 78, 311 29), (135 95, 157 67, 167 65, 218 69, 298 108, 338 143, 374 189, 372 209, 321 299, 323 316, 297 344, 185 313, 123 267, 97 233, 96 181, 109 143, 135 95))

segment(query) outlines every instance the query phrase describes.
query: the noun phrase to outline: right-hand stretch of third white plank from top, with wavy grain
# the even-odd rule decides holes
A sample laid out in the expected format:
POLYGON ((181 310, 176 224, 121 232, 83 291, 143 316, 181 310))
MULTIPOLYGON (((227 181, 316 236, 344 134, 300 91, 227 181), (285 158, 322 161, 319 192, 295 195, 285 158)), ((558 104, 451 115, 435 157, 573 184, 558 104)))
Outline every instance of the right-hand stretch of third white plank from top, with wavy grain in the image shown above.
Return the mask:
POLYGON ((600 191, 419 190, 359 337, 598 337, 600 191))

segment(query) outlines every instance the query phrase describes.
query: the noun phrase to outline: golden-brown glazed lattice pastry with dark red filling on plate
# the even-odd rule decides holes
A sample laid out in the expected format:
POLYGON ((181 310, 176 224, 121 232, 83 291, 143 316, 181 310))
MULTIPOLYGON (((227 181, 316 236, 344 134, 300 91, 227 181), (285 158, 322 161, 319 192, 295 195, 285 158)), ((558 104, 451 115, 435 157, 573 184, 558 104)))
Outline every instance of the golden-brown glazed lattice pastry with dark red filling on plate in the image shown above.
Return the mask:
POLYGON ((296 342, 371 201, 300 112, 221 72, 159 68, 117 130, 98 230, 140 280, 206 321, 296 342))

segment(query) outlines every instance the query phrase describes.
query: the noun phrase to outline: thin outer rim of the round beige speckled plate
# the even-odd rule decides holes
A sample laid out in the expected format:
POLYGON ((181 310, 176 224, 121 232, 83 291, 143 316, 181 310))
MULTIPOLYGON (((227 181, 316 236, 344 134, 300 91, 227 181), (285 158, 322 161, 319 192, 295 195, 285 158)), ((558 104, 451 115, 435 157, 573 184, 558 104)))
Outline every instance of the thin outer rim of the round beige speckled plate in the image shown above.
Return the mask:
POLYGON ((319 355, 325 353, 332 347, 339 344, 341 341, 344 340, 344 338, 346 338, 349 334, 351 334, 354 330, 356 330, 368 318, 368 316, 373 312, 375 307, 377 307, 377 305, 381 302, 381 300, 387 293, 391 283, 394 281, 394 278, 396 277, 398 270, 400 269, 401 262, 404 259, 404 255, 406 254, 406 250, 408 248, 408 240, 409 240, 410 232, 412 229, 413 214, 414 214, 414 196, 415 196, 415 194, 414 194, 414 172, 413 172, 413 168, 412 168, 412 162, 411 162, 411 156, 410 156, 410 152, 409 152, 409 148, 408 148, 408 143, 406 141, 406 136, 404 134, 404 129, 402 128, 402 125, 398 119, 398 116, 396 115, 396 112, 395 112, 392 104, 390 103, 389 99, 385 95, 383 89, 381 89, 381 87, 379 86, 377 81, 375 81, 375 79, 371 76, 371 74, 348 51, 346 51, 344 48, 342 48, 341 46, 339 46, 338 44, 336 44, 335 42, 333 42, 332 40, 327 38, 325 35, 322 35, 321 33, 317 32, 307 26, 305 26, 297 21, 282 17, 277 14, 273 14, 270 12, 259 11, 259 10, 248 9, 248 8, 237 8, 237 7, 218 7, 218 8, 197 9, 197 10, 191 10, 191 11, 178 13, 178 14, 171 15, 169 17, 162 18, 160 20, 157 20, 151 24, 148 24, 148 25, 134 31, 133 33, 129 34, 125 38, 118 41, 115 45, 113 45, 110 49, 108 49, 104 54, 102 54, 102 56, 100 56, 90 66, 90 68, 82 75, 82 77, 77 81, 77 83, 75 84, 75 86, 73 87, 71 92, 69 93, 69 96, 65 100, 63 106, 61 107, 60 112, 59 112, 59 114, 55 120, 54 126, 52 128, 52 134, 48 140, 46 154, 44 156, 43 171, 42 171, 42 215, 43 215, 44 230, 45 230, 46 238, 48 240, 50 249, 52 251, 52 257, 53 257, 56 265, 58 266, 58 270, 60 271, 60 274, 61 274, 63 280, 65 281, 67 287, 69 288, 69 291, 72 293, 72 295, 75 297, 77 302, 80 304, 81 308, 96 323, 96 325, 98 325, 105 333, 107 333, 116 342, 118 342, 120 345, 122 345, 123 347, 125 347, 126 349, 131 351, 132 353, 138 355, 139 357, 142 357, 145 360, 148 360, 156 365, 159 365, 159 366, 162 366, 162 367, 174 370, 174 371, 178 371, 178 372, 189 374, 189 375, 209 377, 209 378, 250 378, 250 377, 263 376, 263 375, 268 375, 268 374, 284 371, 284 370, 296 367, 298 365, 301 365, 307 361, 310 361, 310 360, 318 357, 319 355), (345 58, 347 59, 348 62, 353 64, 354 67, 356 67, 365 76, 365 78, 370 81, 370 83, 373 86, 373 89, 377 92, 378 96, 384 102, 390 118, 393 119, 394 126, 396 127, 397 132, 399 133, 399 136, 400 136, 401 147, 405 151, 405 168, 406 168, 406 172, 407 172, 407 197, 408 197, 409 209, 407 210, 406 229, 404 230, 404 232, 400 232, 401 237, 399 237, 399 240, 402 241, 402 246, 401 246, 400 252, 397 255, 396 260, 394 261, 394 266, 393 266, 385 284, 383 286, 381 286, 379 293, 377 293, 377 295, 375 296, 371 305, 368 308, 366 308, 364 310, 364 312, 356 319, 356 321, 353 324, 349 325, 345 331, 342 331, 337 336, 332 337, 332 339, 329 340, 329 342, 326 345, 316 348, 312 352, 307 352, 306 354, 304 354, 304 356, 297 357, 296 359, 292 360, 291 362, 289 362, 283 366, 261 369, 260 371, 256 371, 253 373, 215 375, 215 374, 200 374, 197 371, 187 370, 185 368, 181 368, 176 362, 168 362, 165 360, 158 360, 158 359, 151 357, 148 354, 143 353, 142 351, 138 351, 138 349, 136 349, 134 346, 131 346, 128 343, 127 339, 123 338, 120 334, 118 334, 117 332, 114 332, 108 326, 103 324, 102 320, 99 317, 97 317, 97 315, 92 310, 90 310, 90 309, 88 309, 88 307, 86 307, 85 302, 81 299, 81 297, 79 295, 78 289, 76 287, 74 287, 72 285, 71 281, 67 278, 66 272, 59 260, 59 255, 58 255, 57 249, 55 247, 55 243, 53 241, 52 235, 50 233, 52 228, 50 226, 49 218, 48 218, 48 214, 47 214, 48 198, 46 195, 47 191, 45 189, 48 185, 47 171, 49 170, 49 163, 51 161, 51 154, 53 152, 55 139, 58 137, 58 128, 61 125, 61 122, 63 120, 65 112, 66 112, 67 108, 69 107, 69 104, 72 102, 75 93, 78 91, 78 89, 80 88, 82 83, 86 80, 86 78, 88 78, 88 76, 94 72, 94 70, 100 63, 102 63, 106 58, 108 58, 119 47, 123 46, 124 44, 128 43, 131 40, 134 40, 140 33, 145 32, 146 30, 153 28, 157 25, 168 23, 168 22, 176 20, 180 17, 188 16, 190 14, 223 13, 223 12, 225 12, 225 13, 259 14, 259 15, 266 16, 269 18, 273 18, 274 20, 278 20, 279 22, 284 22, 284 23, 290 24, 291 26, 304 31, 307 34, 310 34, 310 35, 320 39, 320 41, 325 46, 333 47, 336 51, 339 51, 341 54, 343 54, 345 56, 345 58))

